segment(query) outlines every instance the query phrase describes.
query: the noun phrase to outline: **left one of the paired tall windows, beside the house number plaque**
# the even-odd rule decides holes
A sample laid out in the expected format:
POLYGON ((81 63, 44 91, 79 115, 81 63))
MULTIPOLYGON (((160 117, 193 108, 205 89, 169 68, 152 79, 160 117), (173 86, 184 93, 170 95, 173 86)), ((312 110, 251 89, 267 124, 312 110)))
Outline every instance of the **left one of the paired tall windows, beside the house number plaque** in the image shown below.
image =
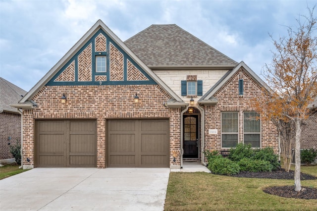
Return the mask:
POLYGON ((221 113, 221 147, 231 148, 238 144, 238 112, 221 113))

